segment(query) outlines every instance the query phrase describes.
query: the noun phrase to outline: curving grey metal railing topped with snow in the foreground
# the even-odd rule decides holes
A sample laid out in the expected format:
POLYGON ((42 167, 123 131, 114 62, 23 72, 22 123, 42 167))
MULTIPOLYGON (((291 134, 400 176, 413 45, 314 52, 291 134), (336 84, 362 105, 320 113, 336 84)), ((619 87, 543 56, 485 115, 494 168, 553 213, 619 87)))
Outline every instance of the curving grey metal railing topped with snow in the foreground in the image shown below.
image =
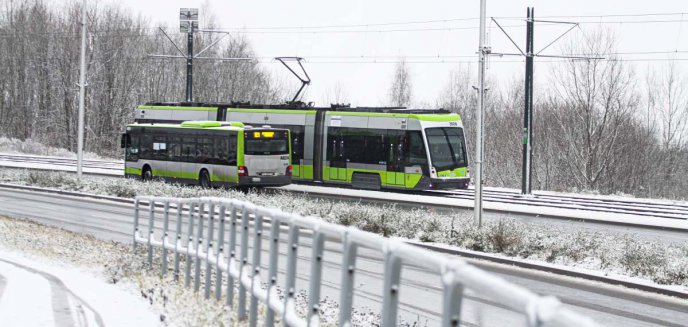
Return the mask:
POLYGON ((384 257, 384 286, 380 290, 383 298, 381 326, 397 325, 399 291, 403 287, 400 278, 405 263, 429 269, 441 278, 443 326, 460 324, 462 301, 467 289, 523 314, 529 327, 597 326, 592 320, 563 308, 554 297, 538 296, 471 266, 464 260, 449 259, 399 240, 383 238, 353 227, 326 223, 318 218, 288 214, 239 200, 217 198, 137 197, 134 210, 134 250, 137 244, 145 244, 147 260, 152 265, 154 248, 162 249, 160 257, 163 275, 169 272, 168 256, 172 254, 175 279, 182 275, 181 256, 185 256, 184 285, 190 287, 193 282, 196 291, 203 286, 205 298, 210 298, 213 292, 211 275, 215 274, 215 298, 221 299, 224 288, 227 304, 234 308, 234 292, 237 291, 238 318, 248 318, 250 326, 258 323, 259 302, 266 306, 262 322, 266 326, 273 326, 275 317, 278 316, 287 326, 319 326, 318 304, 326 238, 328 242, 339 242, 342 247, 339 326, 351 326, 353 282, 359 248, 381 251, 384 257), (156 221, 160 220, 160 217, 156 218, 160 214, 160 208, 161 230, 156 227, 156 221), (146 236, 141 235, 139 225, 142 211, 148 213, 146 236), (186 232, 182 230, 184 219, 186 232), (175 224, 174 230, 170 229, 171 222, 175 224), (288 229, 286 280, 284 285, 278 285, 279 236, 281 229, 285 227, 288 229), (266 238, 263 232, 267 228, 270 233, 266 238), (299 316, 295 307, 298 239, 303 231, 312 233, 307 317, 299 316), (170 240, 171 233, 176 240, 170 240), (228 235, 227 240, 225 235, 228 235), (249 238, 252 239, 252 244, 249 243, 249 238), (269 241, 267 275, 261 269, 262 246, 266 240, 269 241), (250 246, 252 258, 248 255, 250 246), (202 265, 205 267, 202 268, 202 265), (204 272, 203 282, 201 271, 204 272), (226 283, 223 283, 223 279, 226 283), (235 281, 237 290, 234 289, 235 281), (286 290, 284 299, 280 299, 278 287, 286 290), (248 309, 247 295, 250 296, 248 309))

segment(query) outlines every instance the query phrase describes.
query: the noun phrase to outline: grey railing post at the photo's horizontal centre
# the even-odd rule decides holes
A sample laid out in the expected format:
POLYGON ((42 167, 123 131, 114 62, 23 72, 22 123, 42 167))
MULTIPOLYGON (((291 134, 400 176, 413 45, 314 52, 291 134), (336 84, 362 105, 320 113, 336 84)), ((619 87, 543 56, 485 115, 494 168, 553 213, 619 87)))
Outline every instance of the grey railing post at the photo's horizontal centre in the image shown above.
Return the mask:
POLYGON ((357 250, 356 243, 349 239, 349 231, 344 232, 342 236, 342 288, 339 299, 339 326, 351 326, 357 250))

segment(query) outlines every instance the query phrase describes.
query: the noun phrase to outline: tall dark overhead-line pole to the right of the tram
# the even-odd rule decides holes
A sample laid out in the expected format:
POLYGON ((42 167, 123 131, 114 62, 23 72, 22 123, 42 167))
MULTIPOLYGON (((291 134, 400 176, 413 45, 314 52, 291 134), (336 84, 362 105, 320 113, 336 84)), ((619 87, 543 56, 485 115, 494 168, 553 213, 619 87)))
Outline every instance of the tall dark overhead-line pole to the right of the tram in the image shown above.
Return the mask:
POLYGON ((523 110, 523 165, 521 166, 521 194, 532 190, 533 157, 533 20, 534 8, 526 9, 526 78, 525 108, 523 110))

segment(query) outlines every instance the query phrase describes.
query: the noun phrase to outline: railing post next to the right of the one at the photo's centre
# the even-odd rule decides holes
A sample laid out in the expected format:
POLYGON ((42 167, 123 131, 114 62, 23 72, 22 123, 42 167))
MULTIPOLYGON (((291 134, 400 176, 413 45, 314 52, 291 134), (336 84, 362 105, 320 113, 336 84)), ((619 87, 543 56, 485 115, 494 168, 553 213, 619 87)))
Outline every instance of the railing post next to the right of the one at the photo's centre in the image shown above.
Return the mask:
POLYGON ((396 255, 394 250, 388 250, 385 253, 385 281, 382 298, 382 326, 397 325, 400 279, 401 258, 396 255))

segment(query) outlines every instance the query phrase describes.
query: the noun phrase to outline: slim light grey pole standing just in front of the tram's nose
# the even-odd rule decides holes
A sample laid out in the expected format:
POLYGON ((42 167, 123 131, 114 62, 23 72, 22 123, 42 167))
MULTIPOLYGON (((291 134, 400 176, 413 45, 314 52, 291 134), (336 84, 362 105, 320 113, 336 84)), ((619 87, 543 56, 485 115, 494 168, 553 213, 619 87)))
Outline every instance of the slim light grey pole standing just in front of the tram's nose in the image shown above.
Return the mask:
POLYGON ((480 36, 478 37, 478 106, 476 108, 475 132, 475 224, 483 221, 483 114, 485 113, 485 57, 490 52, 485 46, 485 2, 480 0, 480 36))

